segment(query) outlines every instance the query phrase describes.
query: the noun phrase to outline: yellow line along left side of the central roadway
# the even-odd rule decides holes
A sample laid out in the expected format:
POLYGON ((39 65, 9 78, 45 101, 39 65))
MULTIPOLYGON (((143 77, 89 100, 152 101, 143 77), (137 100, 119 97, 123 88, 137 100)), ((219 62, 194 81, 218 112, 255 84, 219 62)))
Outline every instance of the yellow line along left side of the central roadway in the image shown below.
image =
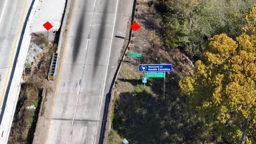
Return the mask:
POLYGON ((45 135, 44 143, 46 143, 46 141, 48 139, 51 117, 53 116, 54 102, 55 102, 56 95, 57 95, 57 89, 59 87, 60 75, 61 75, 62 65, 63 65, 63 61, 64 61, 64 57, 65 57, 65 52, 66 52, 66 47, 67 47, 67 40, 68 40, 69 30, 70 30, 70 26, 71 26, 71 21, 72 21, 72 17, 73 17, 74 5, 75 5, 75 0, 74 0, 72 11, 71 11, 70 21, 68 23, 68 30, 67 30, 67 35, 66 35, 66 40, 65 40, 64 50, 63 50, 63 56, 62 56, 62 59, 61 59, 61 67, 60 67, 59 75, 57 77, 57 84, 56 84, 55 93, 54 93, 53 105, 51 105, 50 117, 49 117, 49 121, 48 121, 47 128, 46 128, 46 135, 45 135))

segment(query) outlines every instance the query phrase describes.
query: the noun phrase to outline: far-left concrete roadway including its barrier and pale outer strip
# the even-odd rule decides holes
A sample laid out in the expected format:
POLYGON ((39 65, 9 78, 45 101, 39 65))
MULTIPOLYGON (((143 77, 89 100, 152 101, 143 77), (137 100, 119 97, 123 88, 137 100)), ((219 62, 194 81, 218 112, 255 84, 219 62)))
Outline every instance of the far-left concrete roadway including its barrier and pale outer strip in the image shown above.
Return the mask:
POLYGON ((19 97, 27 54, 22 47, 30 42, 30 35, 24 35, 30 5, 31 0, 0 1, 0 143, 8 142, 19 97))

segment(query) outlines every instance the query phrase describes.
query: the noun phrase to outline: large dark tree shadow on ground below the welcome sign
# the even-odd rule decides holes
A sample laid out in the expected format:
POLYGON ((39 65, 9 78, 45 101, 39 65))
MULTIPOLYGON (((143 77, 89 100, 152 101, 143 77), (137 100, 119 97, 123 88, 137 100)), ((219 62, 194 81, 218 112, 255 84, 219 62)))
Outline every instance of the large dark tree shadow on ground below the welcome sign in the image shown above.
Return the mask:
POLYGON ((113 129, 130 143, 200 143, 202 124, 185 112, 185 98, 178 91, 153 96, 124 92, 115 102, 113 129), (129 98, 122 98, 129 97, 129 98))

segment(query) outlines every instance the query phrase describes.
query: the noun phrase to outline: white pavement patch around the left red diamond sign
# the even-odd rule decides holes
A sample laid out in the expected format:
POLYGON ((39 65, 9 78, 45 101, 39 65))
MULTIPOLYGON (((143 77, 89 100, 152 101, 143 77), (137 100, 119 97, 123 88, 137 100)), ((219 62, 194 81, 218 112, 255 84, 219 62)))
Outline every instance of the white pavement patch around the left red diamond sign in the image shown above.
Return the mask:
POLYGON ((34 33, 46 32, 43 24, 47 21, 53 25, 53 28, 49 31, 58 31, 61 25, 65 3, 65 0, 41 0, 33 16, 31 31, 34 33))

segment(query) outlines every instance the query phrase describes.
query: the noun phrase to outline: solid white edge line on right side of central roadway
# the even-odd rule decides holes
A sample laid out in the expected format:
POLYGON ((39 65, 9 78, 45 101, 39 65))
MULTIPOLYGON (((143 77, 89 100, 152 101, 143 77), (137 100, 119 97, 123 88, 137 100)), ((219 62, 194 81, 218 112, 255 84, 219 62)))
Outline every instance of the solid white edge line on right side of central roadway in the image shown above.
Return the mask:
MULTIPOLYGON (((108 65, 109 65, 109 59, 110 59, 112 43, 113 43, 113 38, 114 38, 115 20, 117 19, 118 2, 119 2, 119 0, 117 0, 117 6, 115 7, 114 25, 113 25, 113 31, 112 31, 112 37, 111 37, 111 43, 110 43, 110 50, 109 50, 109 53, 108 53, 107 73, 106 73, 106 76, 105 76, 105 79, 104 79, 103 91, 102 91, 102 96, 101 96, 101 105, 100 105, 100 111, 98 112, 98 118, 101 115, 102 98, 103 98, 103 94, 104 94, 104 91, 105 91, 106 80, 107 80, 107 75, 108 75, 108 65)), ((97 118, 97 120, 98 120, 98 118, 97 118)), ((96 131, 95 131, 96 133, 94 135, 94 143, 95 143, 95 137, 96 137, 96 134, 97 134, 97 130, 98 130, 98 121, 97 121, 97 124, 96 124, 96 131)))

